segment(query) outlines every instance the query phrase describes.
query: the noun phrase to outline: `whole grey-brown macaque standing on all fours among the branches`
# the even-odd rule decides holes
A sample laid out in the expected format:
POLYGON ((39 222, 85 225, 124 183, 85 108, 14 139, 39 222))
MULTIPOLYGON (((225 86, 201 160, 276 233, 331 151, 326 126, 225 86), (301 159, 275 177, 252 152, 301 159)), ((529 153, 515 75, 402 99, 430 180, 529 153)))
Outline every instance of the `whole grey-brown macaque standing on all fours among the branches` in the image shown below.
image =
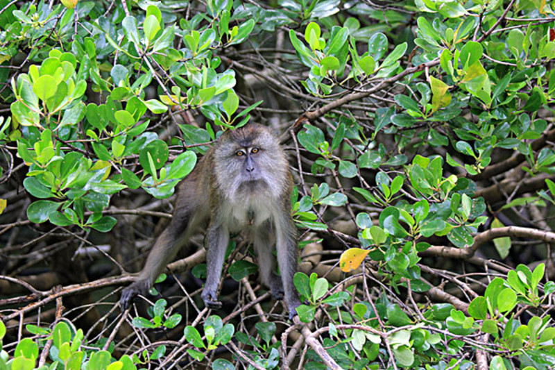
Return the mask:
POLYGON ((148 291, 198 226, 207 223, 205 304, 221 307, 216 291, 230 233, 244 230, 258 255, 262 283, 275 298, 285 296, 289 317, 294 317, 300 302, 293 286, 298 253, 292 188, 287 158, 269 128, 248 124, 223 133, 178 185, 171 223, 156 240, 135 283, 123 290, 123 308, 148 291), (274 245, 281 278, 274 272, 274 245))

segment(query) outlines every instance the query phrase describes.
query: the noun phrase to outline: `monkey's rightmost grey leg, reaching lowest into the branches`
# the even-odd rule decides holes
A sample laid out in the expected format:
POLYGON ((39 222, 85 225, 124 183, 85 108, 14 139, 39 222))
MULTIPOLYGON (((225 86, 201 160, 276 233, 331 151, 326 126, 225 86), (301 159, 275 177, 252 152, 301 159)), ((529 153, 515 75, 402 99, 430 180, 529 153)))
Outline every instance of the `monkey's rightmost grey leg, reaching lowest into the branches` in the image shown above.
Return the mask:
POLYGON ((297 314, 296 308, 300 305, 297 290, 293 285, 293 276, 297 272, 298 258, 296 229, 293 220, 284 216, 278 218, 275 224, 275 247, 278 251, 278 264, 280 264, 282 274, 285 303, 287 303, 287 309, 289 310, 289 319, 293 319, 297 314))

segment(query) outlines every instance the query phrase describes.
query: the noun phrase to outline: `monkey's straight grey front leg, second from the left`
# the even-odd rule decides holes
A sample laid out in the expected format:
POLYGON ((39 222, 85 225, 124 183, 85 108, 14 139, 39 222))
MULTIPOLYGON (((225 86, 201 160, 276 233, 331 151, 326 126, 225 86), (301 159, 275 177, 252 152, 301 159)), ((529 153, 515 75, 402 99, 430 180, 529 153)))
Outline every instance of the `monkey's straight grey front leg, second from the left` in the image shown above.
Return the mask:
POLYGON ((220 284, 221 268, 225 250, 228 248, 230 234, 228 228, 223 225, 214 226, 210 224, 206 235, 206 284, 201 296, 205 305, 209 308, 220 308, 218 301, 218 285, 220 284))

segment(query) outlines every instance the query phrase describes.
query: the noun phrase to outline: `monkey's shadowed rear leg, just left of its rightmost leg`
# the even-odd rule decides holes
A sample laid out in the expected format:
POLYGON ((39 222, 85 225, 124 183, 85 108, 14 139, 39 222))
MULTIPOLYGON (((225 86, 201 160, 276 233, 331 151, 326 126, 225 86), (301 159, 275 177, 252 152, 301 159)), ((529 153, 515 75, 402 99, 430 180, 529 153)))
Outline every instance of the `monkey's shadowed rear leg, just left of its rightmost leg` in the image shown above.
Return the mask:
POLYGON ((270 287, 275 299, 281 299, 283 298, 283 283, 282 278, 275 274, 275 257, 272 253, 275 237, 270 230, 269 223, 260 226, 255 232, 253 244, 258 255, 262 283, 270 287))

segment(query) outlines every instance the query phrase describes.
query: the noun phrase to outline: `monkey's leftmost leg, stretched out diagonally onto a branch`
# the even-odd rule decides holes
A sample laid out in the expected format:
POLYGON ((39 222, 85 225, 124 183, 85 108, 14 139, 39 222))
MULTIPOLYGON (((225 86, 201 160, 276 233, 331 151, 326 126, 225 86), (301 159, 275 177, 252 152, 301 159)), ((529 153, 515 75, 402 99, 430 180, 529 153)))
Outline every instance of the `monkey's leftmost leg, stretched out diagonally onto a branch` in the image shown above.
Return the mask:
POLYGON ((146 263, 137 280, 121 292, 120 303, 123 310, 129 307, 133 299, 139 294, 146 294, 148 289, 154 284, 154 280, 160 272, 172 260, 179 249, 184 246, 189 239, 191 230, 195 227, 195 220, 189 222, 190 210, 178 208, 171 219, 169 226, 160 234, 156 242, 148 253, 146 263))

